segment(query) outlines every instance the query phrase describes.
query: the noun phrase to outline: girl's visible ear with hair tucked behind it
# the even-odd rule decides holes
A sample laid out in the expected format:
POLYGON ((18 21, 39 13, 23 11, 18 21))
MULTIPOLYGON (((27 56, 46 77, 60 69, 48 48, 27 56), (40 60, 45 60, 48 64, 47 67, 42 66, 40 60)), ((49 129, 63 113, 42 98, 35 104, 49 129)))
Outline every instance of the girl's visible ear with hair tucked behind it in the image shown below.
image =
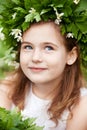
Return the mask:
POLYGON ((67 64, 72 65, 76 61, 77 57, 77 47, 73 47, 73 49, 68 54, 67 64))

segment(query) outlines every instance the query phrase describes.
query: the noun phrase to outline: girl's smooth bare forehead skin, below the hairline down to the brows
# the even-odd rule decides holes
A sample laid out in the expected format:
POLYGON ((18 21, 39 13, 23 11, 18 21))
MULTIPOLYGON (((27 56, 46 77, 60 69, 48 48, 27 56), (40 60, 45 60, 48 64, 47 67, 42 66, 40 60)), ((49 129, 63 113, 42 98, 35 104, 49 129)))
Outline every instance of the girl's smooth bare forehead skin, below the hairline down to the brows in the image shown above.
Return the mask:
POLYGON ((55 43, 55 44, 61 44, 62 39, 53 29, 50 29, 50 27, 47 26, 41 26, 41 28, 32 27, 30 30, 27 30, 27 32, 24 34, 23 37, 24 42, 30 42, 30 43, 55 43))

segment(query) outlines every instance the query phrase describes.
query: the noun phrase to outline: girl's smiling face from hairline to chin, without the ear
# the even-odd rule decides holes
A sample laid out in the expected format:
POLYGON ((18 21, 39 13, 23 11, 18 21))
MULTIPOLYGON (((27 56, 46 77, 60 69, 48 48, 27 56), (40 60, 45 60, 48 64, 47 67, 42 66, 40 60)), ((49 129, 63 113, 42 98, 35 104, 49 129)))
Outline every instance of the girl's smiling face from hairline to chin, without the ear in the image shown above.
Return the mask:
POLYGON ((20 65, 33 83, 58 83, 67 61, 63 40, 51 24, 34 25, 24 33, 20 65))

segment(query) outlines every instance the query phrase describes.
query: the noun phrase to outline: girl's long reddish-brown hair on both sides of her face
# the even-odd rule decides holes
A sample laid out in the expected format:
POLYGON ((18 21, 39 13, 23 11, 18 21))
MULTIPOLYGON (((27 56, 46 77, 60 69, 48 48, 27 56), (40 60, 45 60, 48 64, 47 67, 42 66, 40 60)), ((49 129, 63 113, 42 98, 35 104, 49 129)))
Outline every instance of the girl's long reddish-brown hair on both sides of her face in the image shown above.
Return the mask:
MULTIPOLYGON (((57 28, 56 24, 53 22, 49 23, 53 24, 59 31, 59 27, 57 28)), ((72 38, 66 38, 66 36, 63 36, 63 41, 67 51, 71 51, 73 47, 77 48, 78 57, 75 63, 65 66, 61 81, 56 88, 55 96, 48 109, 49 114, 51 114, 51 119, 54 120, 56 124, 65 109, 71 111, 71 107, 79 102, 80 88, 83 86, 83 78, 80 69, 80 52, 77 41, 72 38)), ((12 84, 14 84, 12 101, 20 109, 24 109, 24 101, 27 90, 30 88, 30 81, 22 72, 20 66, 13 75, 15 76, 12 81, 12 84)))

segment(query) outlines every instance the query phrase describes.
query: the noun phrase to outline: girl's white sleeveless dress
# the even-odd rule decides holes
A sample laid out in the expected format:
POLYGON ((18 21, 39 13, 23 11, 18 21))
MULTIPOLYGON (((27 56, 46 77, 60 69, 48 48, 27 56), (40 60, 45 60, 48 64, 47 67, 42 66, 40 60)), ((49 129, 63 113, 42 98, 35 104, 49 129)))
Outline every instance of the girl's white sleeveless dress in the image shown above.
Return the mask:
MULTIPOLYGON (((87 89, 81 89, 81 96, 87 95, 87 89)), ((55 126, 55 123, 50 120, 50 117, 47 113, 47 109, 50 105, 49 100, 43 100, 35 96, 32 90, 29 92, 29 95, 26 99, 25 108, 22 111, 22 114, 25 117, 34 117, 36 118, 35 123, 38 126, 44 126, 43 130, 65 130, 66 129, 66 120, 69 114, 69 111, 65 110, 62 114, 61 119, 59 120, 58 126, 55 126)))

